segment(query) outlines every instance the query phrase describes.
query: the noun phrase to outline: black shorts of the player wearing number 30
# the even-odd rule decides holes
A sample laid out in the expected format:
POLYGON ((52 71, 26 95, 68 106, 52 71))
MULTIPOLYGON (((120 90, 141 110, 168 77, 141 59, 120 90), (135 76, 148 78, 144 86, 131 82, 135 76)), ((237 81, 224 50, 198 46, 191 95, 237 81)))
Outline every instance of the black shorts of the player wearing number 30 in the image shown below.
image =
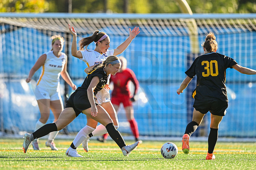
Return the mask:
POLYGON ((225 116, 226 109, 228 108, 228 102, 220 99, 205 101, 195 99, 193 107, 202 114, 206 114, 208 111, 210 111, 210 113, 213 115, 225 116))

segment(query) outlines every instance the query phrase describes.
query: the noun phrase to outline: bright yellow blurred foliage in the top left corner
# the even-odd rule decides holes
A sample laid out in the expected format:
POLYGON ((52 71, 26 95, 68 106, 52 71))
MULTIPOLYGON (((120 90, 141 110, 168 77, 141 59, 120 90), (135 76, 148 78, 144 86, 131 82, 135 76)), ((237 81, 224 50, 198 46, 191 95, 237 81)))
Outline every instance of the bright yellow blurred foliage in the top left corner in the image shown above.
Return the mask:
POLYGON ((1 0, 0 12, 45 12, 48 7, 46 0, 1 0))

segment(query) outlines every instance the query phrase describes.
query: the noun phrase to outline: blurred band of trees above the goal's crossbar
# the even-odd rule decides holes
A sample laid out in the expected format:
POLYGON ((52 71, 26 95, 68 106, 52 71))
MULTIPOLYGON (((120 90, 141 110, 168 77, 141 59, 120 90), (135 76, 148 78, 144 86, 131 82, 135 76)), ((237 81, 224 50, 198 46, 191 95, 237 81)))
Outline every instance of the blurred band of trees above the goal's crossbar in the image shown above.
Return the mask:
MULTIPOLYGON (((256 13, 255 0, 186 0, 193 13, 256 13)), ((67 12, 69 0, 2 0, 0 12, 67 12)), ((180 13, 172 0, 72 0, 72 12, 180 13)))

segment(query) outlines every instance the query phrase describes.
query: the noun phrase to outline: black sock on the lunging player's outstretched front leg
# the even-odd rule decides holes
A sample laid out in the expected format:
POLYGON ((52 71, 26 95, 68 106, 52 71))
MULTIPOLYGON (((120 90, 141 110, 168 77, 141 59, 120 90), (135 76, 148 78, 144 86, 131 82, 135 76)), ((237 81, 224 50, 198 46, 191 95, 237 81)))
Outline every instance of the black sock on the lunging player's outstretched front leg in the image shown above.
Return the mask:
POLYGON ((109 136, 116 142, 116 144, 122 149, 126 146, 125 141, 118 130, 116 130, 114 123, 109 123, 106 125, 106 129, 109 133, 109 136))

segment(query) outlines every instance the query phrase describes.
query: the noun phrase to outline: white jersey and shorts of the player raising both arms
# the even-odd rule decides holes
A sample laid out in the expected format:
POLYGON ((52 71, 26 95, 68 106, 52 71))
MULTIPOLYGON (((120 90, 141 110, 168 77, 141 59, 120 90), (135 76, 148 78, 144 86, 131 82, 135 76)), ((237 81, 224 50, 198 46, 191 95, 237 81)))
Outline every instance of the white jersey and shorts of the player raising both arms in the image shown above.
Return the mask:
MULTIPOLYGON (((103 61, 105 61, 108 56, 113 56, 114 50, 107 50, 106 53, 101 54, 101 53, 98 53, 97 51, 88 49, 88 51, 84 50, 84 51, 81 51, 81 53, 83 58, 79 58, 79 59, 84 61, 87 64, 87 66, 90 67, 96 64, 103 63, 103 61)), ((107 84, 109 84, 109 79, 110 79, 110 74, 108 76, 107 84)), ((110 101, 109 90, 103 88, 102 90, 98 91, 95 98, 97 99, 96 101, 98 104, 109 102, 110 101)))

